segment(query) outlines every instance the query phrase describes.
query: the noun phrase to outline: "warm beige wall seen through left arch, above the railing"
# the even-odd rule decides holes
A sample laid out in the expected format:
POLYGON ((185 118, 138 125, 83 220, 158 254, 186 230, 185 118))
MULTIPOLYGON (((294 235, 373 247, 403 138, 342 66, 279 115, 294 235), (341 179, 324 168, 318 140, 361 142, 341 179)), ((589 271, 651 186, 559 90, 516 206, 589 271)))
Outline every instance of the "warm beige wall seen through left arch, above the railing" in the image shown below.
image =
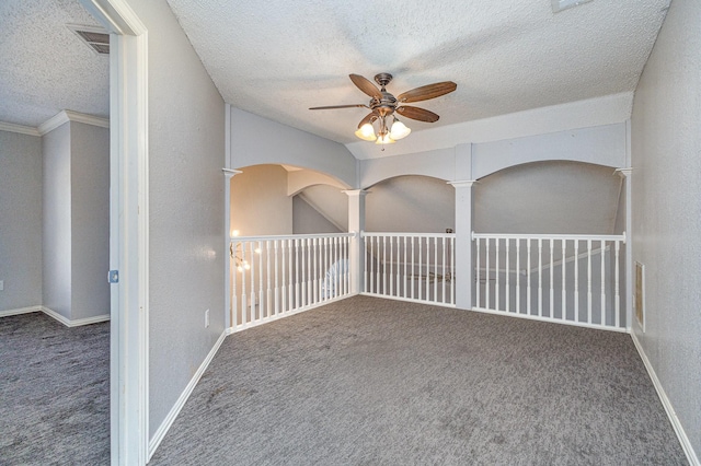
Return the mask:
POLYGON ((292 234, 292 198, 287 171, 254 165, 231 178, 231 231, 241 236, 292 234))

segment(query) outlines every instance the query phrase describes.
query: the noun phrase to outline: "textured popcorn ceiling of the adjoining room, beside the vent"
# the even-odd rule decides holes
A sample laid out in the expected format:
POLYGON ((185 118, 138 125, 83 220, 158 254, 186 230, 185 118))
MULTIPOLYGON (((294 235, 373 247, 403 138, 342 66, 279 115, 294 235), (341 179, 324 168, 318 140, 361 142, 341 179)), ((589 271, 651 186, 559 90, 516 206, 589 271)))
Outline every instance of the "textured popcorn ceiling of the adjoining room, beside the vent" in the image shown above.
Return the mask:
POLYGON ((99 25, 78 0, 0 1, 0 121, 38 126, 62 109, 110 115, 110 57, 66 24, 99 25))

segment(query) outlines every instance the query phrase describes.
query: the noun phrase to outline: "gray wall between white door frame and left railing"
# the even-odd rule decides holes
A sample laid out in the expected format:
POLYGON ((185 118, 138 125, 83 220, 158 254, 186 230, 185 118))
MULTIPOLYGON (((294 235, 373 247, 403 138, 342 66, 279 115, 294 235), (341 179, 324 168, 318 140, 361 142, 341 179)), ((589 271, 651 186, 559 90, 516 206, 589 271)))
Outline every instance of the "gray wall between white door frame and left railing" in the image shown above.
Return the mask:
POLYGON ((148 28, 152 436, 223 331, 225 103, 168 3, 129 4, 148 28))

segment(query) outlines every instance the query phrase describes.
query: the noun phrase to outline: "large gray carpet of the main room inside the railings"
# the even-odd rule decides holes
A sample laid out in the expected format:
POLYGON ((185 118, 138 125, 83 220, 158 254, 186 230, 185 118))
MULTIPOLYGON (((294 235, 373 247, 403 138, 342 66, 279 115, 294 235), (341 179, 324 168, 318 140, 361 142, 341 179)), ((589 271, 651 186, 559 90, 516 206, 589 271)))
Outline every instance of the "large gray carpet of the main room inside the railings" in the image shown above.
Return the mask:
POLYGON ((356 296, 227 337, 152 465, 676 465, 630 336, 356 296))

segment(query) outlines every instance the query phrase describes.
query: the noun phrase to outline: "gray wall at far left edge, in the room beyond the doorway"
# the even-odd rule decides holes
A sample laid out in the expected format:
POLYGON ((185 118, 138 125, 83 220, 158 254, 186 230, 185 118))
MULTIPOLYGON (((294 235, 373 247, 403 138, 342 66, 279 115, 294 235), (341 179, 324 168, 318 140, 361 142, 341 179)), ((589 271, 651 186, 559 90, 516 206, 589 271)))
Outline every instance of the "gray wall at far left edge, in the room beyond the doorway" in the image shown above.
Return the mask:
POLYGON ((42 139, 0 131, 0 312, 42 304, 42 139))

